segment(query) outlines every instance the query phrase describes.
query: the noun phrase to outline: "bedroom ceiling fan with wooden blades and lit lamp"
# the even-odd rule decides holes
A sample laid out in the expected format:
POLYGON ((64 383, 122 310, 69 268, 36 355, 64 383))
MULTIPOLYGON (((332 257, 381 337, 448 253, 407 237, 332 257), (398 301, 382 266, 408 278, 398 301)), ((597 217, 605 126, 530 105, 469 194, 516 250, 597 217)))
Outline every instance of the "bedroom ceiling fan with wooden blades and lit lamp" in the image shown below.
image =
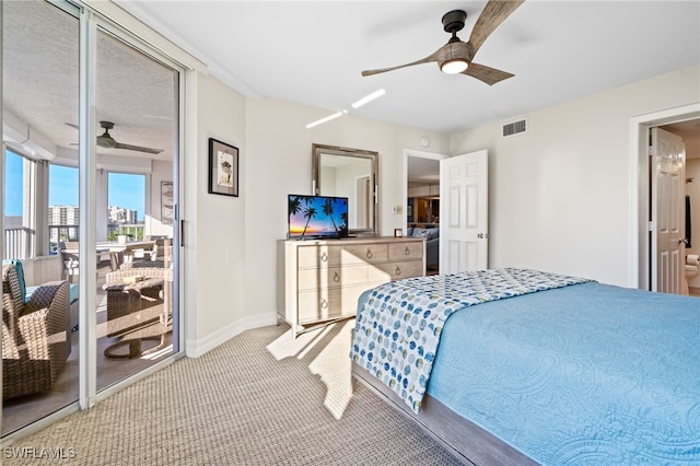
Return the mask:
POLYGON ((468 42, 463 42, 457 37, 457 33, 464 28, 464 22, 467 13, 463 10, 453 10, 442 16, 442 24, 445 32, 452 34, 447 44, 440 47, 428 57, 412 61, 410 63, 399 65, 397 67, 382 68, 377 70, 362 71, 363 77, 383 73, 386 71, 398 70, 399 68, 412 67, 413 65, 422 65, 436 62, 440 69, 450 74, 467 74, 493 85, 504 79, 512 78, 514 74, 497 70, 483 65, 475 63, 474 56, 481 47, 483 42, 491 33, 525 0, 489 0, 483 8, 481 15, 477 19, 474 30, 468 42))

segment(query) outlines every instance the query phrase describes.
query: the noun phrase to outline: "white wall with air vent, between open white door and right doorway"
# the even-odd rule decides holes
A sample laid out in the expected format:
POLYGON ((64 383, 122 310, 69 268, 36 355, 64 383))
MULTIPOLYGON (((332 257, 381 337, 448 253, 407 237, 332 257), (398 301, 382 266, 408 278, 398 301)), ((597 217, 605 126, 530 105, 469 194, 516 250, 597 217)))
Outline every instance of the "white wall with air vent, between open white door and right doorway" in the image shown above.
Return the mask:
POLYGON ((630 120, 700 102, 700 67, 455 133, 450 153, 489 151, 490 266, 530 267, 632 286, 630 120))

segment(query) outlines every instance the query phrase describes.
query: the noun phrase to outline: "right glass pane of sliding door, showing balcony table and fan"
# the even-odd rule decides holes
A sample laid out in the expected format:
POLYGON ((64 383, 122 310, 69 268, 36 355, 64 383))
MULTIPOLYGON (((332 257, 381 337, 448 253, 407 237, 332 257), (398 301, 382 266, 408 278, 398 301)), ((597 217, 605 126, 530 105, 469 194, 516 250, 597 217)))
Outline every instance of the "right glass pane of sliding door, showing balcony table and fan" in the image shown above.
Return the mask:
POLYGON ((178 73, 104 30, 96 50, 101 391, 174 351, 174 232, 163 212, 172 208, 178 73))

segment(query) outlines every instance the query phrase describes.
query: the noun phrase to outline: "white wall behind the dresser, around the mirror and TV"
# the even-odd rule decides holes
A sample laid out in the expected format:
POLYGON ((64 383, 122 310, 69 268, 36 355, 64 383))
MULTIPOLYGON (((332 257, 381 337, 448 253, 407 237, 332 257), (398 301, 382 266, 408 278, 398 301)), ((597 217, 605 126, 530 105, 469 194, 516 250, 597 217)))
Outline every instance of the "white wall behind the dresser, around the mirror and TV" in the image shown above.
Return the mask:
POLYGON ((328 114, 287 102, 246 101, 245 187, 245 313, 254 322, 275 323, 277 240, 287 235, 287 195, 311 194, 312 143, 378 152, 380 233, 393 235, 404 226, 404 215, 390 213, 402 205, 404 149, 447 152, 446 135, 343 116, 306 129, 306 124, 328 114))

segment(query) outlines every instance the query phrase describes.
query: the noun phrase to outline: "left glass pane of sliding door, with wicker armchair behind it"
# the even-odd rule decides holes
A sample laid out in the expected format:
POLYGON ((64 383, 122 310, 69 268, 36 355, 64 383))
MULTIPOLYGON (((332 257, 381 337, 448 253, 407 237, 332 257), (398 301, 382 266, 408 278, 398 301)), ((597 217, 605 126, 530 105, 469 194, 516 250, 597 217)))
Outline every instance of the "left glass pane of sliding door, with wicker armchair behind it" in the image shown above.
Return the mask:
POLYGON ((79 112, 79 21, 74 8, 63 7, 2 2, 2 258, 14 267, 3 266, 3 290, 20 299, 10 306, 3 296, 3 436, 78 399, 77 289, 51 284, 66 278, 56 247, 69 230, 61 233, 60 219, 52 221, 61 209, 49 206, 47 189, 52 166, 78 166, 66 123, 79 112), (22 282, 25 292, 15 296, 11 283, 22 282))

